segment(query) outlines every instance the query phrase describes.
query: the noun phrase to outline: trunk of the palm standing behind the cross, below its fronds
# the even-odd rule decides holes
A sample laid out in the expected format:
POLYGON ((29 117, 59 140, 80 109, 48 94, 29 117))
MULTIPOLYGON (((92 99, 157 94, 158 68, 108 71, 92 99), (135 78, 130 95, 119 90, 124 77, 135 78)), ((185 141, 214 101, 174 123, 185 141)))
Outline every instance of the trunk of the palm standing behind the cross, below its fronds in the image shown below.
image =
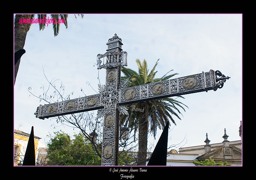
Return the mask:
MULTIPOLYGON (((147 111, 146 111, 147 112, 147 111)), ((146 165, 147 158, 147 131, 148 118, 146 113, 139 114, 139 151, 138 151, 138 166, 146 165)))

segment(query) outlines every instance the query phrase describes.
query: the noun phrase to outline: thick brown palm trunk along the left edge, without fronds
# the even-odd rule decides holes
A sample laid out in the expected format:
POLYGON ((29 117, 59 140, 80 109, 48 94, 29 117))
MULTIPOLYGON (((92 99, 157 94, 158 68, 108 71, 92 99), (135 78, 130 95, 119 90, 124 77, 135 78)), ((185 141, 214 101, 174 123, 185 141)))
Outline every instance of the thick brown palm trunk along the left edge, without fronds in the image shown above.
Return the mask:
MULTIPOLYGON (((25 45, 27 31, 29 29, 28 23, 22 23, 22 24, 19 23, 20 18, 21 19, 29 19, 29 18, 31 18, 31 15, 29 15, 29 14, 17 14, 16 15, 17 22, 15 23, 15 26, 14 26, 14 52, 16 52, 19 49, 23 49, 23 47, 25 45)), ((18 73, 19 65, 20 65, 20 59, 14 66, 14 84, 16 81, 16 76, 18 73)))

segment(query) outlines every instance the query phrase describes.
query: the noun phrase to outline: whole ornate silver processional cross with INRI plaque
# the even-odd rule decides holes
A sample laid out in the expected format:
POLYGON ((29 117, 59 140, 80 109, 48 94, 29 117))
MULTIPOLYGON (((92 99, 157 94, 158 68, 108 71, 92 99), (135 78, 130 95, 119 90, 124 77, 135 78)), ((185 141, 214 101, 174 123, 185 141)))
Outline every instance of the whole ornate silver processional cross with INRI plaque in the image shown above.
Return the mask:
POLYGON ((97 55, 97 69, 106 69, 106 84, 99 94, 52 104, 39 105, 36 118, 74 114, 97 110, 103 117, 101 165, 118 165, 119 113, 128 114, 126 104, 222 88, 229 79, 220 71, 210 70, 171 80, 125 88, 129 80, 120 82, 121 66, 127 66, 127 52, 116 34, 106 43, 107 52, 97 55))

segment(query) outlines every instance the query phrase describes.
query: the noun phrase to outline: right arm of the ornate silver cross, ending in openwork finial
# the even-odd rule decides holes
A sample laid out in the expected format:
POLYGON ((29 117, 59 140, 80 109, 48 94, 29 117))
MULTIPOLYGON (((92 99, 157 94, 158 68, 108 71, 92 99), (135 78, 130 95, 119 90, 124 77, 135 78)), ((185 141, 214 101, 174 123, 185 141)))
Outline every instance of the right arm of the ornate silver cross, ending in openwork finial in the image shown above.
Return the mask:
POLYGON ((119 104, 132 104, 164 97, 214 90, 223 86, 226 79, 220 71, 210 70, 199 74, 178 77, 135 87, 120 89, 119 104), (221 76, 219 78, 218 76, 221 76))

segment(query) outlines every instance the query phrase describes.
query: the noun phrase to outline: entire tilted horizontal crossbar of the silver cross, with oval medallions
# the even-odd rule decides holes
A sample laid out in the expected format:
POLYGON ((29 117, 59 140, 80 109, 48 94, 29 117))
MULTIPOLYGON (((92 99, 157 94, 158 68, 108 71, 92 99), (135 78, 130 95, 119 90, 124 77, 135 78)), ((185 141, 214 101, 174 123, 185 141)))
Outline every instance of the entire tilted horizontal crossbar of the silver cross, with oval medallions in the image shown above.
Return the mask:
MULTIPOLYGON (((44 119, 102 109, 104 106, 114 108, 116 104, 126 105, 164 97, 207 92, 208 90, 216 91, 217 88, 222 88, 224 81, 229 78, 229 76, 225 77, 221 74, 220 71, 210 70, 209 72, 117 90, 115 87, 106 89, 99 85, 101 91, 99 94, 40 105, 35 115, 39 119, 44 119)), ((122 106, 120 106, 121 109, 123 109, 122 106)))

